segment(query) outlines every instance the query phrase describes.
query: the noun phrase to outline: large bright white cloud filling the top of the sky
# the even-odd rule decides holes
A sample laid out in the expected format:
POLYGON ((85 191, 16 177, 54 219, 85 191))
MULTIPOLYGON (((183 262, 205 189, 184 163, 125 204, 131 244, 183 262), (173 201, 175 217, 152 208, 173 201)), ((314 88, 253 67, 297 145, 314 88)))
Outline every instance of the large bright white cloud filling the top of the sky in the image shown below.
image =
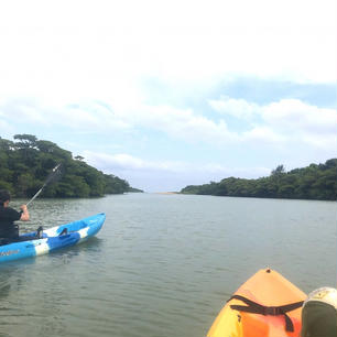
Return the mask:
POLYGON ((336 12, 334 0, 6 1, 0 93, 126 102, 143 75, 336 81, 336 12))

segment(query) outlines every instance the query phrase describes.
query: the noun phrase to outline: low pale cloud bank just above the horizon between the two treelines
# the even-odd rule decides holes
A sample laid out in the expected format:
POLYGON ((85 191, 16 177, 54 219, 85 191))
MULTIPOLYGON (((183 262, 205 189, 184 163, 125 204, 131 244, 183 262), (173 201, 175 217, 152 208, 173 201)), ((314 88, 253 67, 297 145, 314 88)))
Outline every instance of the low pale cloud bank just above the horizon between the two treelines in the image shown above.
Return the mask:
POLYGON ((148 192, 180 191, 188 184, 206 184, 228 176, 256 178, 270 174, 270 168, 267 167, 240 168, 219 163, 148 161, 126 153, 111 155, 85 151, 81 155, 88 164, 126 178, 131 186, 145 188, 148 192))

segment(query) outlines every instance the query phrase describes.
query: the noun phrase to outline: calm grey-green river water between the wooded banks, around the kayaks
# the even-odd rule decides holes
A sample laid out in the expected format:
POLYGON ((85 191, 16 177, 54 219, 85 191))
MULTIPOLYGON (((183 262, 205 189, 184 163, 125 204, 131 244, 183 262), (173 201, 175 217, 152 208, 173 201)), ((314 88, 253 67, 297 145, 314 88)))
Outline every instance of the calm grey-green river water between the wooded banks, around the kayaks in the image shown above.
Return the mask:
POLYGON ((1 337, 202 337, 230 294, 265 267, 306 293, 336 287, 334 202, 36 199, 29 226, 101 211, 105 226, 90 241, 0 267, 1 337))

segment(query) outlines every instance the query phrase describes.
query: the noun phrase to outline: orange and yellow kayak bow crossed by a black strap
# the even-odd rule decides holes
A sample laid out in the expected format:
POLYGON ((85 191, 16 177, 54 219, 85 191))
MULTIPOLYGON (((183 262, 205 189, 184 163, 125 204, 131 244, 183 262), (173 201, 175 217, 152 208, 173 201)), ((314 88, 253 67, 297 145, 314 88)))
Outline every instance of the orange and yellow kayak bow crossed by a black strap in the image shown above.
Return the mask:
POLYGON ((207 337, 300 337, 302 301, 306 298, 298 287, 273 270, 260 270, 235 293, 213 323, 207 337), (231 306, 247 306, 238 300, 248 298, 263 307, 280 307, 298 303, 297 308, 286 313, 293 330, 286 330, 282 315, 257 314, 238 311, 231 306))

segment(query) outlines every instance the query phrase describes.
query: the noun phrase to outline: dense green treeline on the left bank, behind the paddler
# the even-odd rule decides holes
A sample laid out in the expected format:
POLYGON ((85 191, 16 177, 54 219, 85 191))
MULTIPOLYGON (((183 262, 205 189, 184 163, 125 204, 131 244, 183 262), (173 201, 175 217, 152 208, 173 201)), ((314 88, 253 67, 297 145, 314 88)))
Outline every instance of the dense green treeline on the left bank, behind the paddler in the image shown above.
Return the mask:
POLYGON ((62 164, 62 178, 43 191, 44 197, 97 197, 105 194, 140 192, 112 174, 86 164, 81 156, 32 134, 15 134, 14 141, 0 137, 0 189, 15 197, 31 197, 53 167, 62 164))

